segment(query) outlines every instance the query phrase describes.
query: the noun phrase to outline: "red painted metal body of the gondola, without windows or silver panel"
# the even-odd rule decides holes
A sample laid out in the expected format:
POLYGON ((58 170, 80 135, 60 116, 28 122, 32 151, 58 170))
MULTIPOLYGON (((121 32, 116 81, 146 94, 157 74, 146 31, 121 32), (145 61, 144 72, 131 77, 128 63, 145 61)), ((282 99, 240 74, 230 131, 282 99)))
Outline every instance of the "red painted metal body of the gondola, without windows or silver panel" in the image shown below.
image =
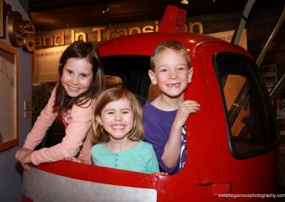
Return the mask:
MULTIPOLYGON (((170 9, 175 10, 173 7, 170 9)), ((275 193, 278 165, 276 148, 244 160, 234 159, 229 150, 224 107, 212 65, 212 56, 217 51, 251 57, 247 50, 209 36, 171 32, 171 28, 167 29, 167 23, 162 24, 164 27, 160 32, 116 38, 100 43, 98 48, 102 57, 151 55, 160 41, 174 39, 189 50, 194 75, 185 96, 186 99, 197 100, 201 110, 187 121, 190 132, 187 132, 185 168, 179 174, 160 177, 69 161, 41 164, 36 168, 83 181, 154 188, 157 201, 223 201, 225 198, 219 198, 219 193, 275 193)), ((170 26, 173 28, 173 24, 170 23, 170 26)), ((266 199, 270 201, 272 198, 266 199)), ((260 198, 228 199, 252 200, 260 201, 260 198)), ((24 198, 24 201, 28 200, 24 198)))

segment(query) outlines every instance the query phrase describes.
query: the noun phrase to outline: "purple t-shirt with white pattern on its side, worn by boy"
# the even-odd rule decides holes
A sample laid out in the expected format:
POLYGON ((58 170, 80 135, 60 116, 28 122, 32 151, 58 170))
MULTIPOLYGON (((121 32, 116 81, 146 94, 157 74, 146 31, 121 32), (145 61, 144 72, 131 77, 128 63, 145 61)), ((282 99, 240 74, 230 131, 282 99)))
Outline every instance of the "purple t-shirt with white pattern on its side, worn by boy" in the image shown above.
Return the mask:
POLYGON ((186 132, 185 127, 182 129, 181 151, 180 158, 177 165, 168 168, 163 163, 161 157, 165 150, 165 144, 170 136, 172 123, 175 119, 177 110, 162 111, 150 104, 152 100, 148 100, 143 107, 143 125, 145 129, 145 141, 152 144, 155 149, 157 161, 160 164, 160 169, 169 174, 176 174, 179 172, 186 161, 186 132))

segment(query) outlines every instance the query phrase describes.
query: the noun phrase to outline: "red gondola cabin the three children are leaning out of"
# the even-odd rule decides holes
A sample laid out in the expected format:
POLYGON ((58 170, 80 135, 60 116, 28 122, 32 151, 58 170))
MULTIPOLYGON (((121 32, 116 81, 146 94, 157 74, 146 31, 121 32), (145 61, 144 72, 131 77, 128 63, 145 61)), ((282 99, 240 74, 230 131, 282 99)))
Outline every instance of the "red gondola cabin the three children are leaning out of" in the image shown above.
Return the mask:
POLYGON ((156 33, 98 45, 105 72, 147 99, 147 70, 161 41, 180 41, 194 69, 186 99, 201 110, 187 121, 187 161, 179 174, 58 161, 24 172, 24 201, 271 201, 278 184, 278 129, 259 69, 244 48, 185 33, 186 12, 168 6, 156 33), (268 194, 268 195, 266 195, 268 194))

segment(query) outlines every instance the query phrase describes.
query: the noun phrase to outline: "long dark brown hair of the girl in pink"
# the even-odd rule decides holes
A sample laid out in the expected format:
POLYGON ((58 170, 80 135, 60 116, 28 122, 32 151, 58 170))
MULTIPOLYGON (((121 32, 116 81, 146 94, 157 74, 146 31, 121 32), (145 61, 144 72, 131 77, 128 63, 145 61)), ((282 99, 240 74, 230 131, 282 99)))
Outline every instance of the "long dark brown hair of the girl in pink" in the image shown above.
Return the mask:
POLYGON ((88 103, 90 99, 98 97, 100 92, 105 88, 103 79, 103 65, 98 52, 97 46, 93 43, 86 43, 84 41, 75 41, 71 43, 68 48, 61 55, 61 60, 58 68, 58 84, 56 85, 56 100, 53 105, 53 111, 66 112, 71 109, 73 105, 83 106, 88 103), (70 97, 61 83, 63 75, 63 68, 69 58, 87 58, 92 65, 93 79, 90 87, 86 92, 83 92, 77 97, 70 97))

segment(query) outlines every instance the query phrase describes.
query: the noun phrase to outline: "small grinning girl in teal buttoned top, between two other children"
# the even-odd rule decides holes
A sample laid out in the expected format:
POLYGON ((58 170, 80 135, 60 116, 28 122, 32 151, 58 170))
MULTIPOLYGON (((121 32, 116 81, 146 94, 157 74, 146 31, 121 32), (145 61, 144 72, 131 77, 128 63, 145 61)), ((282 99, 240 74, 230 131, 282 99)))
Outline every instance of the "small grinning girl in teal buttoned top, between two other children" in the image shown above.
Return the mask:
POLYGON ((96 103, 93 130, 94 165, 159 175, 155 151, 142 141, 142 108, 132 92, 105 90, 96 103))

